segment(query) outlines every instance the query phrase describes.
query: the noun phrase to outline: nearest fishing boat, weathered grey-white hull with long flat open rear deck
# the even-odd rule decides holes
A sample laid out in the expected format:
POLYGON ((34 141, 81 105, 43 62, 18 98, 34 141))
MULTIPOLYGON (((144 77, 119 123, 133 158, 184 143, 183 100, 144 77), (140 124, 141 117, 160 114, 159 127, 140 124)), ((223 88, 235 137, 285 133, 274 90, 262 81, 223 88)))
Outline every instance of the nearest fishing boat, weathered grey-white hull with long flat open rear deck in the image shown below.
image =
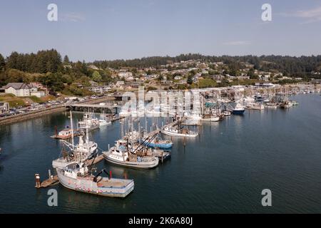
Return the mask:
POLYGON ((133 191, 133 180, 112 178, 111 175, 101 177, 103 172, 108 175, 106 170, 93 175, 91 169, 81 162, 71 162, 63 169, 57 169, 59 182, 70 190, 104 197, 126 197, 133 191))

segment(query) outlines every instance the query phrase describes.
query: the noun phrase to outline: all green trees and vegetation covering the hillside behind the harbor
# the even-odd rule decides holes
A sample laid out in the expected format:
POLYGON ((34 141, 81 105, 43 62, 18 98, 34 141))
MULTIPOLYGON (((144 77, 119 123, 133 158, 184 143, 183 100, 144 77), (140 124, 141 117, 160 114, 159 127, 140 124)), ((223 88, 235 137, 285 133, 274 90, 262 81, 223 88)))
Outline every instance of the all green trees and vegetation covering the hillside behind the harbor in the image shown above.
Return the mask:
MULTIPOLYGON (((111 68, 119 69, 127 67, 128 71, 135 74, 141 68, 160 68, 170 63, 180 61, 198 60, 203 63, 211 63, 208 73, 202 73, 203 79, 198 83, 193 82, 193 78, 197 73, 200 73, 202 66, 199 69, 190 71, 187 76, 182 76, 181 73, 166 74, 169 81, 173 81, 175 76, 182 76, 187 79, 186 85, 178 85, 179 89, 185 88, 205 88, 217 86, 230 86, 235 84, 243 85, 245 83, 254 83, 258 81, 258 75, 255 70, 268 71, 272 73, 283 73, 283 76, 300 77, 304 80, 309 78, 321 78, 320 75, 313 74, 321 71, 321 56, 203 56, 198 53, 182 54, 180 56, 153 56, 147 58, 136 58, 132 60, 115 60, 115 61, 94 61, 86 63, 85 61, 77 61, 73 63, 68 56, 61 59, 60 53, 55 49, 38 51, 37 53, 17 53, 12 52, 8 57, 4 58, 0 54, 0 86, 6 83, 30 83, 38 81, 51 90, 51 94, 63 93, 66 95, 90 95, 90 91, 86 89, 91 86, 92 81, 103 84, 111 83, 115 80, 125 80, 124 78, 116 77, 113 79, 113 71, 111 68), (219 70, 215 68, 214 63, 220 64, 219 70), (90 66, 93 64, 96 69, 90 66), (216 83, 212 76, 215 74, 223 74, 230 76, 240 76, 242 72, 248 72, 250 81, 228 81, 223 79, 220 83, 216 83), (83 88, 85 87, 85 88, 83 88)), ((182 68, 195 68, 197 63, 186 63, 180 66, 167 65, 169 71, 182 68)), ((148 75, 158 74, 157 80, 163 80, 163 76, 154 69, 148 69, 148 75)), ((277 76, 271 76, 272 81, 277 80, 277 76)), ((149 81, 146 81, 148 83, 149 81)), ((179 83, 178 81, 174 81, 179 83)), ((280 81, 280 83, 296 83, 295 80, 280 81)), ((152 90, 153 88, 151 88, 152 90)))

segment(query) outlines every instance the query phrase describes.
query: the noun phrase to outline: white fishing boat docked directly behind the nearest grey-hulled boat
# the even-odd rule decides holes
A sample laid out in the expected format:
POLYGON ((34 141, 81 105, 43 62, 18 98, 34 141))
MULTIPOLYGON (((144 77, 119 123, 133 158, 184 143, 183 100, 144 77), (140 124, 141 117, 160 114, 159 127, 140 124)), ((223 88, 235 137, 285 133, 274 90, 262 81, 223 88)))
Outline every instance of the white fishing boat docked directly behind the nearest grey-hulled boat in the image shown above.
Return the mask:
POLYGON ((146 150, 146 147, 141 146, 134 148, 128 142, 122 144, 120 141, 116 141, 115 146, 103 152, 103 157, 116 165, 141 169, 151 169, 159 162, 158 157, 153 156, 151 149, 146 150))

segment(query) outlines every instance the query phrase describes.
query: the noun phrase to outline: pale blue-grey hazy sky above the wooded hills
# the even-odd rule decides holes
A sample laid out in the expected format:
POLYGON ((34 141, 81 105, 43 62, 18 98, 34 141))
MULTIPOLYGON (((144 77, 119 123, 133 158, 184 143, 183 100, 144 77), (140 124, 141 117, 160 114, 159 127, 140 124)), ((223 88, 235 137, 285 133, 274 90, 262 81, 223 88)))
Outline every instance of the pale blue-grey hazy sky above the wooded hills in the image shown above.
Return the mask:
POLYGON ((71 61, 321 54, 321 0, 1 0, 0 53, 56 48, 71 61), (263 4, 272 21, 263 21, 263 4), (49 4, 58 21, 49 21, 49 4))

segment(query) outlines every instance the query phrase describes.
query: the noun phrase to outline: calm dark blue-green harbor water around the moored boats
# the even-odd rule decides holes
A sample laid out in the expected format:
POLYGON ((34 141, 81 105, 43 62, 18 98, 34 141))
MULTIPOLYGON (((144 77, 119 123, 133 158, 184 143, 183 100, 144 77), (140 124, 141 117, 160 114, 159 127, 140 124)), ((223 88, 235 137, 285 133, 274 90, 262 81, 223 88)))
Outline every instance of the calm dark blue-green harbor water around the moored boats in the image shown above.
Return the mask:
MULTIPOLYGON (((47 205, 48 189, 36 190, 34 174, 48 176, 61 144, 49 138, 68 125, 67 113, 0 126, 0 212, 14 213, 321 213, 321 96, 293 97, 290 110, 246 111, 220 123, 205 123, 200 136, 173 138, 172 157, 153 170, 131 170, 103 161, 114 177, 135 180, 126 199, 58 190, 58 207, 47 205), (272 207, 261 191, 272 190, 272 207)), ((81 114, 75 113, 80 119, 81 114)), ((91 133, 101 149, 121 135, 113 123, 91 133)))

